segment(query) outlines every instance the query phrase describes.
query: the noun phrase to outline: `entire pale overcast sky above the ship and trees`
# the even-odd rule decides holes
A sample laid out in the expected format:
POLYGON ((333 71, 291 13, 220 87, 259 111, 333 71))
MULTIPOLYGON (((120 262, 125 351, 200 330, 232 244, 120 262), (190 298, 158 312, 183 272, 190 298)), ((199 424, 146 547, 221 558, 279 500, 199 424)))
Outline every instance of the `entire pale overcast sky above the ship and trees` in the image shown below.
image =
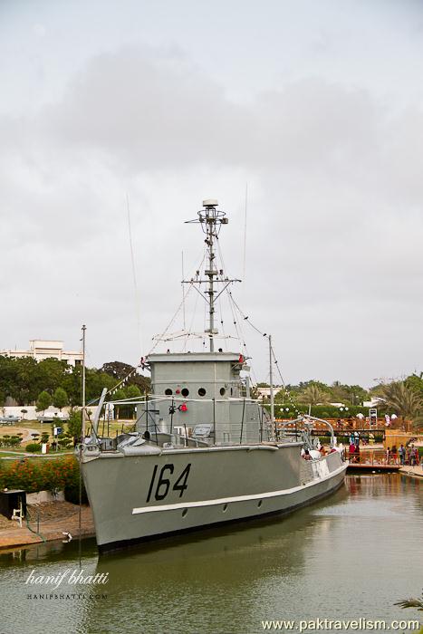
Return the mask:
POLYGON ((286 382, 423 370, 422 66, 418 0, 1 0, 0 349, 86 323, 89 365, 136 364, 216 197, 286 382))

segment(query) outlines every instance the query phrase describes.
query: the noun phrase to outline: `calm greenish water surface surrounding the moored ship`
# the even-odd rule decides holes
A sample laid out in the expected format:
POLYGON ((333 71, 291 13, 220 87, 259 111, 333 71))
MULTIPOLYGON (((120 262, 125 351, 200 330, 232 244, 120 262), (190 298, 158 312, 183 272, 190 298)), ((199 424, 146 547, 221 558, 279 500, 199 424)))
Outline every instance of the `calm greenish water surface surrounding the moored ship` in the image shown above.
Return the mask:
POLYGON ((110 581, 95 589, 62 583, 56 593, 84 594, 73 600, 29 599, 48 587, 24 581, 34 569, 77 570, 77 543, 4 553, 0 632, 255 634, 268 619, 417 618, 393 604, 422 591, 422 501, 416 479, 348 476, 336 495, 284 519, 100 559, 86 540, 84 574, 108 572, 110 581))

